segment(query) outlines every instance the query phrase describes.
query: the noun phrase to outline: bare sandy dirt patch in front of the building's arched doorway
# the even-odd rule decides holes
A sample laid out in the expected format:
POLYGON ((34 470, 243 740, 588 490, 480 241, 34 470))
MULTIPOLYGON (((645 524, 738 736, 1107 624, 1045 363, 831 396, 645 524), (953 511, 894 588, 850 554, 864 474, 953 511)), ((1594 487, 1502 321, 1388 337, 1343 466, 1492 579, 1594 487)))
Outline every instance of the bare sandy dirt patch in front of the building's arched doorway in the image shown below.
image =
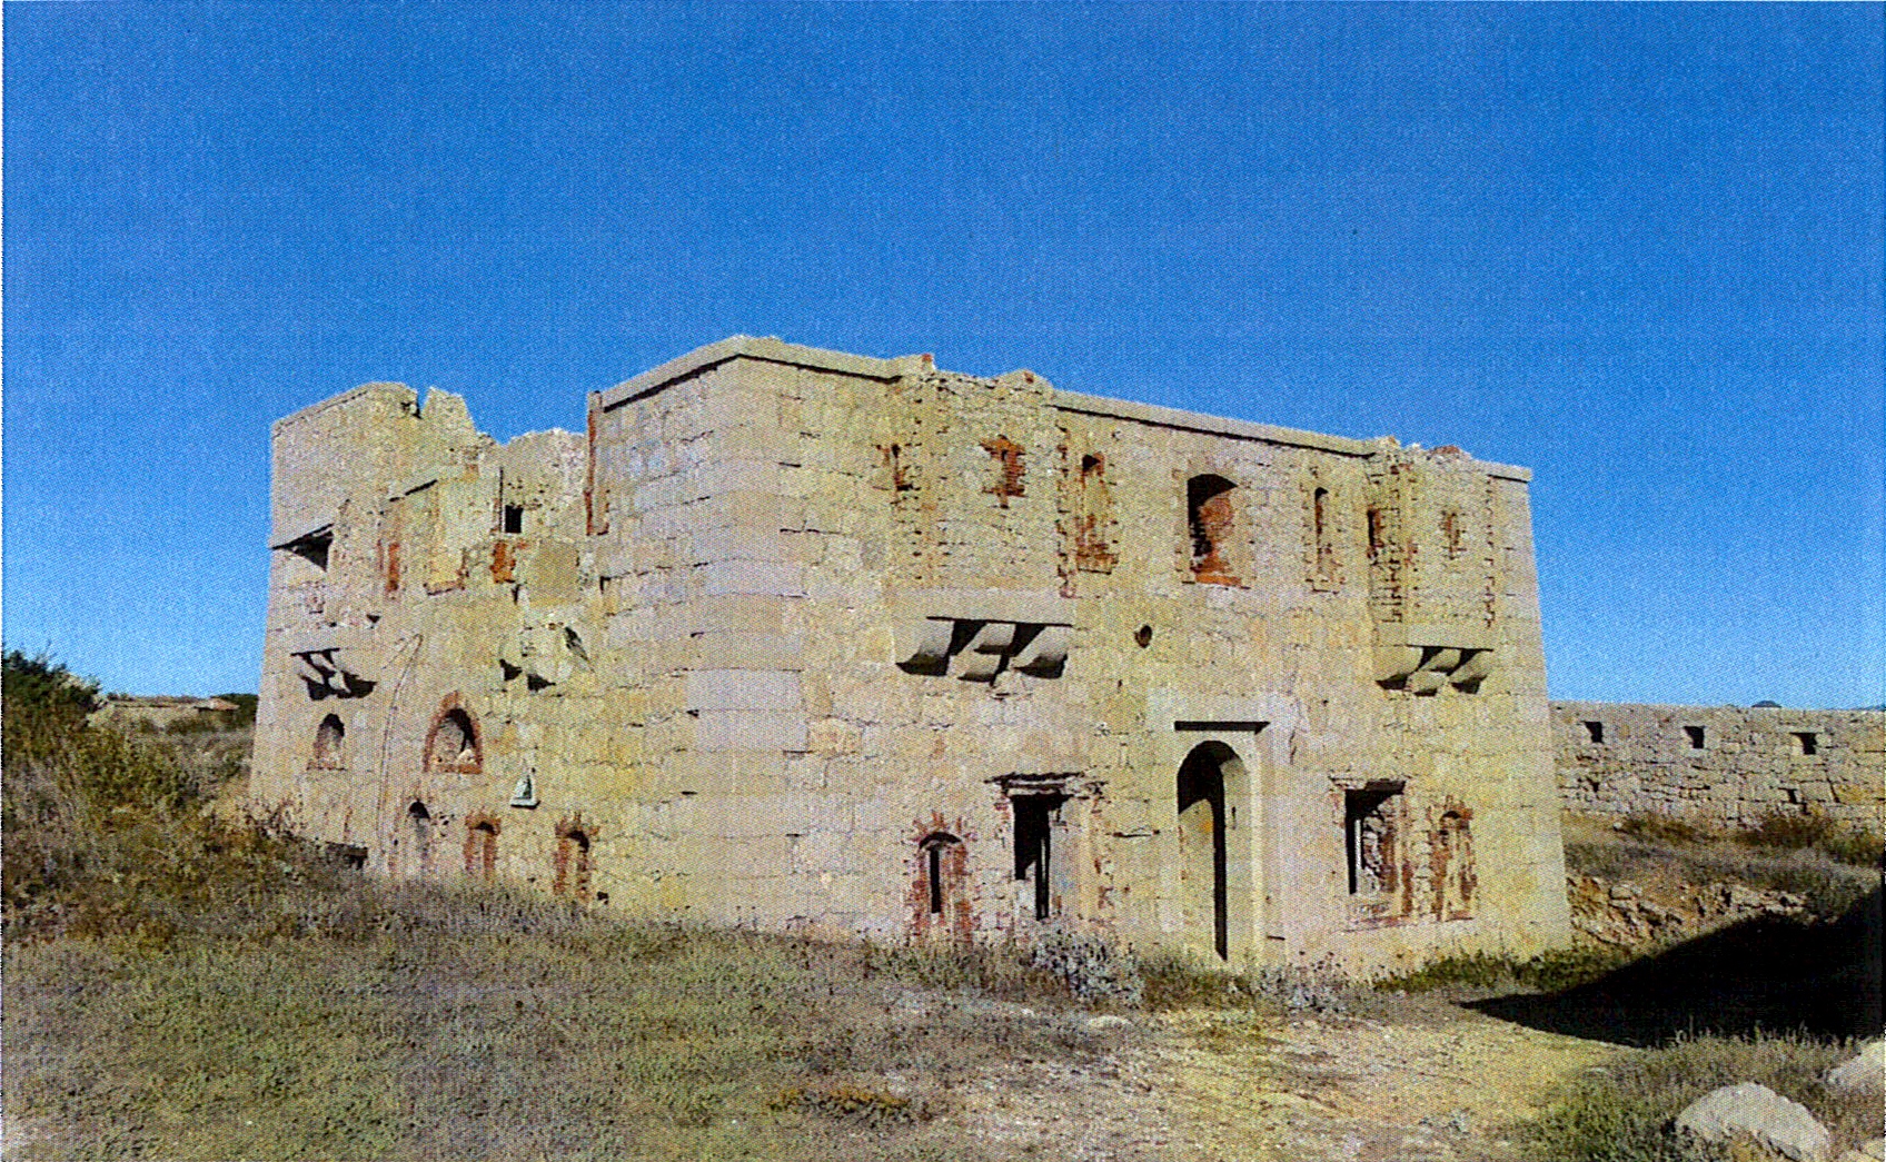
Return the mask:
POLYGON ((984 1068, 943 1096, 947 1136, 996 1158, 1067 1162, 1505 1162, 1524 1156, 1513 1124, 1541 1090, 1616 1053, 1416 1000, 1288 1022, 1075 1021, 1092 1060, 984 1068))

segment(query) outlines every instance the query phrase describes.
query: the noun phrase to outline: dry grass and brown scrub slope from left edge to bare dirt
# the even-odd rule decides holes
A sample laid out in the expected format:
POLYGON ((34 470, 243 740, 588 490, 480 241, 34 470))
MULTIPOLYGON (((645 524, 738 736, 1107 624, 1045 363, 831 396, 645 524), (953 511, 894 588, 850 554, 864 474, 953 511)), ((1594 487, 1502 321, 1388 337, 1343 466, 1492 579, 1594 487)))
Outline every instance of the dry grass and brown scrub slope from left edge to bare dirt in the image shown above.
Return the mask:
POLYGON ((975 1158, 954 1085, 1086 1053, 1015 951, 368 883, 207 815, 215 736, 87 726, 43 660, 6 692, 9 1160, 975 1158))

